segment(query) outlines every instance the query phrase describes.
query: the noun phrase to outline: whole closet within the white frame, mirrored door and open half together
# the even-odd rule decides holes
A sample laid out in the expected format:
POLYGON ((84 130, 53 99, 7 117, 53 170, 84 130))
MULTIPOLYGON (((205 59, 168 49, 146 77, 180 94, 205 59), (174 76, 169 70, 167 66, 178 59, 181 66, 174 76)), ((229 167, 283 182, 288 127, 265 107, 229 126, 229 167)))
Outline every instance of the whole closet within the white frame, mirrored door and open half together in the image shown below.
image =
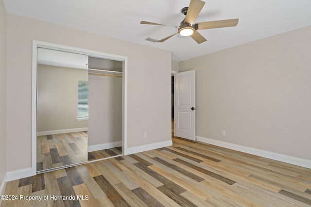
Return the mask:
POLYGON ((37 173, 122 154, 122 62, 38 48, 37 173))

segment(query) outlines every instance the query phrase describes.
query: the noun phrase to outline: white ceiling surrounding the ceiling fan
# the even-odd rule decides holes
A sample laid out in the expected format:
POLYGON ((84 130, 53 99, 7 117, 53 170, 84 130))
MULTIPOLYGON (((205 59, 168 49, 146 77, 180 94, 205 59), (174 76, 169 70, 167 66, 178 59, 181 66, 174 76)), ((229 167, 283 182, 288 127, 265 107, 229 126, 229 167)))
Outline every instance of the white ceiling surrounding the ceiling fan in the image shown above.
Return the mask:
POLYGON ((190 0, 3 0, 7 13, 26 16, 142 45, 172 51, 182 61, 311 25, 311 0, 204 0, 195 22, 239 18, 236 27, 200 30, 198 45, 174 27, 141 25, 141 20, 176 25, 190 0))

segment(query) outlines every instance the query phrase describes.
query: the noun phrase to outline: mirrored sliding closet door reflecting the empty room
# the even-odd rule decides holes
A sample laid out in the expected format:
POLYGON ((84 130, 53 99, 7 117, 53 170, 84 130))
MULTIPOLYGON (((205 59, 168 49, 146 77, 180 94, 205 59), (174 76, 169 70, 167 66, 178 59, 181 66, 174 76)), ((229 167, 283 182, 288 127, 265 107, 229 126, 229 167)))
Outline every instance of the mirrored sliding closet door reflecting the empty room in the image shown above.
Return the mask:
POLYGON ((37 171, 87 161, 87 64, 86 55, 38 48, 37 171))

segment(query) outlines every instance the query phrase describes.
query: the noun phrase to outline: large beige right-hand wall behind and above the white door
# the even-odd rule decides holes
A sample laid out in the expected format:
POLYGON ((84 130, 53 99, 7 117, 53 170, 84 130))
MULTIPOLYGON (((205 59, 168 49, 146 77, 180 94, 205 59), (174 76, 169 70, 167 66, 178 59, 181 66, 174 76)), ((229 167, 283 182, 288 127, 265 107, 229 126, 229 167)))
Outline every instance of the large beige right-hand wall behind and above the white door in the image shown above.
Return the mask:
POLYGON ((310 36, 306 27, 180 62, 197 71, 196 135, 311 160, 310 36))

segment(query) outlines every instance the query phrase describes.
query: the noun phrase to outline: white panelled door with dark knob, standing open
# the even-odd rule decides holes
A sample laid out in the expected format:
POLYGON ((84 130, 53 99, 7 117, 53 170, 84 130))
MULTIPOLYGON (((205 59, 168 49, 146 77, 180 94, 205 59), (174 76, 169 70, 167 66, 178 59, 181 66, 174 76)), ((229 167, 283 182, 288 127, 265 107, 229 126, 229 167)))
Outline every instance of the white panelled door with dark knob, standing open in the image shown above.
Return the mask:
POLYGON ((195 140, 195 70, 175 74, 174 136, 195 140))

